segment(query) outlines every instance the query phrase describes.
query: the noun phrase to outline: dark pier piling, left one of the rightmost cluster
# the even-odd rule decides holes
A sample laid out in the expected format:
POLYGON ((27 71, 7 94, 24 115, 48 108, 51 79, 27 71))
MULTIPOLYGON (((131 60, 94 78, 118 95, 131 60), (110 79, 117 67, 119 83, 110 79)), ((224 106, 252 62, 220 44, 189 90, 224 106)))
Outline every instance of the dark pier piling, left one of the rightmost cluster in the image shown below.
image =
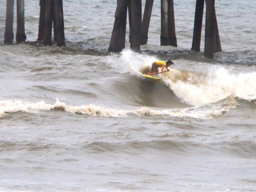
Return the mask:
POLYGON ((197 0, 191 50, 200 51, 204 0, 197 0))

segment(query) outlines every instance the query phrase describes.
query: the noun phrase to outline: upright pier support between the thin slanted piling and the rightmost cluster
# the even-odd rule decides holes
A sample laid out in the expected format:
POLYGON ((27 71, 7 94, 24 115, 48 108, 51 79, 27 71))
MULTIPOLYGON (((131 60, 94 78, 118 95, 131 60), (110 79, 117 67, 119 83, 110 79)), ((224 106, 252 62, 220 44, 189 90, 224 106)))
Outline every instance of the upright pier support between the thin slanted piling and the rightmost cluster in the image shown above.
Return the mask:
POLYGON ((173 0, 161 0, 160 45, 171 45, 177 47, 173 0))

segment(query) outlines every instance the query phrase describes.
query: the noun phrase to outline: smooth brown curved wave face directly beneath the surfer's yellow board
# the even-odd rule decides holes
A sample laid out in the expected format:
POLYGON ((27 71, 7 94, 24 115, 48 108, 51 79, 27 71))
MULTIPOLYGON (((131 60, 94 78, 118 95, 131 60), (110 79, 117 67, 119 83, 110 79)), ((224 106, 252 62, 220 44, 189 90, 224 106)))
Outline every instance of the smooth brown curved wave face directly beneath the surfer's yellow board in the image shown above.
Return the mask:
POLYGON ((178 97, 166 85, 142 80, 137 76, 124 76, 112 83, 112 92, 128 105, 187 108, 190 105, 179 101, 178 97))

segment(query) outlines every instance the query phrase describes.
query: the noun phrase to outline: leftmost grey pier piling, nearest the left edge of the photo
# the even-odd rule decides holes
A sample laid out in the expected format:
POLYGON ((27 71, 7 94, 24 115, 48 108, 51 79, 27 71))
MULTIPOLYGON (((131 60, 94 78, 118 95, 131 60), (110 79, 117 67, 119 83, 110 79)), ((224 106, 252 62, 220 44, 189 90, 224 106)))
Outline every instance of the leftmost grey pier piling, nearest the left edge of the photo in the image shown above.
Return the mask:
POLYGON ((13 9, 14 0, 6 0, 5 44, 13 43, 13 9))

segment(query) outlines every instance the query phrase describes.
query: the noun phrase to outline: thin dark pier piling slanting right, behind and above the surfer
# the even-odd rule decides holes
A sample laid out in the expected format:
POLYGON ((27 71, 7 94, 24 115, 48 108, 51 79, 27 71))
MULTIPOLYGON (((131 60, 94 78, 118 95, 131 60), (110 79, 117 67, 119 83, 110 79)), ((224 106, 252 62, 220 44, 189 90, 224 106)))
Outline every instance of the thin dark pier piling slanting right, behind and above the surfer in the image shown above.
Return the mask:
POLYGON ((148 33, 149 33, 149 23, 152 13, 152 7, 153 7, 154 0, 146 0, 144 14, 143 14, 143 20, 141 24, 141 31, 140 31, 140 44, 146 45, 148 41, 148 33))

